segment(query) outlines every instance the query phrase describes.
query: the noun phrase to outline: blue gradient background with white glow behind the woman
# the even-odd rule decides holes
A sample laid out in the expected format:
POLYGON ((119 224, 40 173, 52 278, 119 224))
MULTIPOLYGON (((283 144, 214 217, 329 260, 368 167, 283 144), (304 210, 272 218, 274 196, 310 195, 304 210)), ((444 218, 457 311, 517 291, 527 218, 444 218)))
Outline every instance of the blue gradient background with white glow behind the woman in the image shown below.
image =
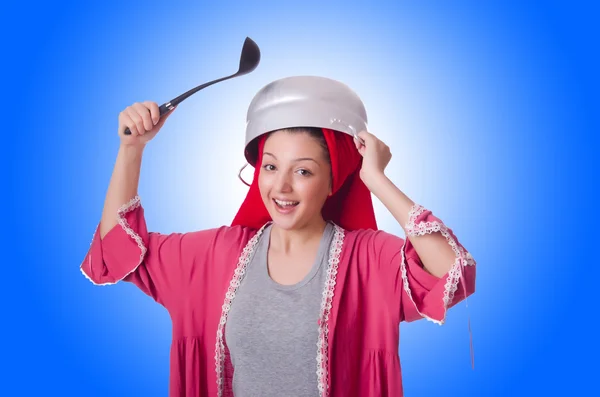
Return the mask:
MULTIPOLYGON (((167 312, 131 285, 92 285, 79 265, 112 173, 118 113, 233 73, 246 36, 261 48, 259 67, 188 99, 148 146, 149 228, 229 223, 247 189, 237 172, 254 94, 288 75, 339 79, 392 148, 388 175, 479 266, 476 294, 446 325, 401 326, 406 395, 591 394, 595 10, 283 3, 6 6, 0 395, 167 395, 167 312)), ((378 202, 376 211, 382 229, 402 233, 378 202)))

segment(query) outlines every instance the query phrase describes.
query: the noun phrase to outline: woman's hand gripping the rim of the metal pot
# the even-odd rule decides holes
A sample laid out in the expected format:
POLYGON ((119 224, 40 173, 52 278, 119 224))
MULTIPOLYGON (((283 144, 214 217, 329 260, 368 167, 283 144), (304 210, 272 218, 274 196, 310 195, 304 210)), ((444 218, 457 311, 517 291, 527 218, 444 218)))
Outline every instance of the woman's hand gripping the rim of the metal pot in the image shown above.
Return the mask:
POLYGON ((365 142, 363 145, 356 138, 354 144, 356 149, 363 156, 360 178, 369 186, 371 179, 380 177, 384 174, 385 167, 392 159, 390 148, 377 139, 377 137, 367 131, 361 131, 358 136, 365 142))

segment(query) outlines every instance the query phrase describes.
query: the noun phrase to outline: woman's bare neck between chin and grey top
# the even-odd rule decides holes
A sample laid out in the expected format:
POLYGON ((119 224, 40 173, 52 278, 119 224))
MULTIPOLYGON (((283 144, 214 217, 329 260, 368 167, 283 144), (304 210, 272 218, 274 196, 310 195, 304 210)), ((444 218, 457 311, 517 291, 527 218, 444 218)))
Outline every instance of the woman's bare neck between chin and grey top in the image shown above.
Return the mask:
POLYGON ((299 228, 289 230, 282 229, 273 223, 270 249, 284 254, 300 251, 307 245, 320 241, 326 225, 327 222, 322 216, 299 228))

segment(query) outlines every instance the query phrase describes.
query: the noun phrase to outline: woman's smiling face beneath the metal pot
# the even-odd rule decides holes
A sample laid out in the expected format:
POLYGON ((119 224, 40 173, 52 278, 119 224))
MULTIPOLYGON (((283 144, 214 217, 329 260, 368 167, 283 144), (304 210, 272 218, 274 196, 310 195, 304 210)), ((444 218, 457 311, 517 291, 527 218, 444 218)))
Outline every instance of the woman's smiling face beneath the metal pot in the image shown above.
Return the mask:
POLYGON ((322 219, 331 192, 331 166, 319 142, 307 133, 277 131, 266 140, 258 186, 271 219, 283 229, 322 219))

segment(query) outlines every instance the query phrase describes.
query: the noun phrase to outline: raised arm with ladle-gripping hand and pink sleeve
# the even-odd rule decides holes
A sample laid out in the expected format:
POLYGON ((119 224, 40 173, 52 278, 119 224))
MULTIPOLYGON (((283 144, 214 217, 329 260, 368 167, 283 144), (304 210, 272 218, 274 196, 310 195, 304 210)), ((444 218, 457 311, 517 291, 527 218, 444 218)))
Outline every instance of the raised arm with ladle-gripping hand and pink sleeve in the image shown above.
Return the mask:
POLYGON ((154 102, 135 103, 119 115, 121 145, 108 186, 102 218, 80 269, 96 285, 125 280, 167 306, 173 291, 182 292, 198 255, 215 230, 163 235, 149 232, 138 196, 142 155, 169 115, 159 117, 154 102), (129 128, 131 135, 125 135, 129 128), (168 264, 168 266, 166 266, 168 264))

